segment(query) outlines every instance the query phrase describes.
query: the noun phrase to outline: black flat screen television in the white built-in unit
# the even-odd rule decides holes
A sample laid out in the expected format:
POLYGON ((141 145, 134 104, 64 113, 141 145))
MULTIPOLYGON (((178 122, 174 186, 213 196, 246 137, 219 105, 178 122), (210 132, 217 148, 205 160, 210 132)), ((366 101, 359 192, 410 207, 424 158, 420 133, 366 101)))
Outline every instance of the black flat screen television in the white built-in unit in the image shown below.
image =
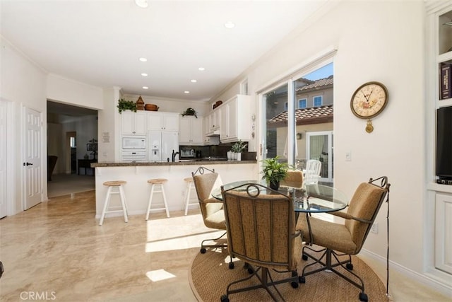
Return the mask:
POLYGON ((452 106, 436 110, 436 176, 452 180, 452 106))

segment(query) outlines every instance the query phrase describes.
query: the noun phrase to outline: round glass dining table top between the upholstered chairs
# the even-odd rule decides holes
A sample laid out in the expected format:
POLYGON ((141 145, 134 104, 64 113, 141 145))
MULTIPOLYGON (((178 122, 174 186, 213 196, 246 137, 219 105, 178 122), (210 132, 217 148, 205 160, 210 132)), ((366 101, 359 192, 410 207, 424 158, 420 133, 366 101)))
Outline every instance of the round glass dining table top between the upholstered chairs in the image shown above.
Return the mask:
MULTIPOLYGON (((223 185, 224 190, 230 190, 234 187, 240 187, 245 184, 259 184, 266 185, 264 180, 240 180, 237 182, 230 182, 223 185)), ((261 188, 260 188, 261 189, 261 188)), ((244 188, 242 187, 242 190, 244 188)), ((252 186, 249 187, 249 192, 257 190, 252 186)), ((314 213, 328 213, 333 211, 340 211, 345 209, 348 205, 348 197, 335 187, 319 184, 305 184, 303 188, 283 187, 278 189, 278 192, 287 194, 292 197, 294 202, 295 221, 298 220, 300 213, 305 213, 307 216, 307 224, 309 228, 309 236, 312 242, 311 224, 309 223, 309 216, 314 213)), ((266 194, 266 189, 261 189, 260 194, 266 194)), ((222 200, 221 188, 218 187, 212 191, 212 197, 222 200)))

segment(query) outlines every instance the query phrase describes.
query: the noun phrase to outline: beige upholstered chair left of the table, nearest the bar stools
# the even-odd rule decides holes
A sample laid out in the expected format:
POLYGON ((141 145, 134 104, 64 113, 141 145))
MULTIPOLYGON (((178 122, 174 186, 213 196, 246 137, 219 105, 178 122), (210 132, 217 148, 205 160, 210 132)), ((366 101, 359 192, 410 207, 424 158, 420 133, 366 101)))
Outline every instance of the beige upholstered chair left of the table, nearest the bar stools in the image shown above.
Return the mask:
MULTIPOLYGON (((208 241, 216 241, 226 235, 225 214, 223 204, 220 200, 211 196, 214 189, 222 185, 220 175, 215 170, 199 167, 191 173, 193 177, 196 194, 198 195, 199 207, 203 216, 204 225, 208 228, 224 230, 225 233, 218 238, 206 239, 201 243, 201 254, 206 252, 206 248, 225 248, 227 243, 206 244, 208 241)), ((231 262, 232 263, 232 262, 231 262)))

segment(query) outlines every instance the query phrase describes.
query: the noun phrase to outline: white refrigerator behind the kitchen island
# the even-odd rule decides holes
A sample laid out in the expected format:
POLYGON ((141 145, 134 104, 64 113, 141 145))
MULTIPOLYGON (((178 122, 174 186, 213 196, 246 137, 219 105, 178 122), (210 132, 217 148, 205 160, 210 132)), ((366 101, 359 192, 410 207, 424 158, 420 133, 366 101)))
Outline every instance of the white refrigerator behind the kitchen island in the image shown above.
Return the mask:
MULTIPOLYGON (((172 161, 172 151, 179 152, 179 132, 149 131, 148 159, 149 161, 172 161)), ((177 157, 179 159, 179 156, 177 157)))

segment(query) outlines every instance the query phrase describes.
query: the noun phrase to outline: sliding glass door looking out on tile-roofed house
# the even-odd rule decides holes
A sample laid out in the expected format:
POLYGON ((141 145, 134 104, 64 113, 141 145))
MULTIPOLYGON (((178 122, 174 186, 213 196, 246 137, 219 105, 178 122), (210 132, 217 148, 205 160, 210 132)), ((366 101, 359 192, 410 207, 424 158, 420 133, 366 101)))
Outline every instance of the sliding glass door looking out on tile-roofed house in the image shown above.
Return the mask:
POLYGON ((323 161, 321 180, 333 182, 333 63, 275 84, 261 100, 263 159, 278 156, 304 168, 316 158, 323 161))

